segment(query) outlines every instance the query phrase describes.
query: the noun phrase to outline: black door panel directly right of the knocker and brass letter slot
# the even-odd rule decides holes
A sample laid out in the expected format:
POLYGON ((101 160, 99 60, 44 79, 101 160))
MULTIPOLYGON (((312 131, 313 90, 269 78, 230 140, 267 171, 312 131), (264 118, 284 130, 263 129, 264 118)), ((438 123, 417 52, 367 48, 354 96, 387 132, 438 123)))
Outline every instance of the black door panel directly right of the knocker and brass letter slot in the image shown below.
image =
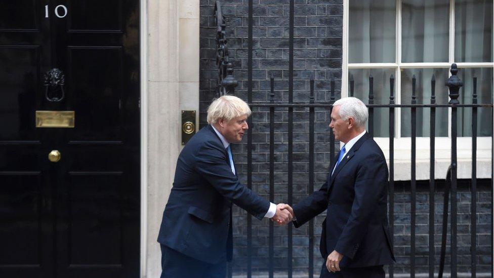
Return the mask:
POLYGON ((78 128, 73 140, 121 141, 121 47, 71 47, 68 64, 78 128))

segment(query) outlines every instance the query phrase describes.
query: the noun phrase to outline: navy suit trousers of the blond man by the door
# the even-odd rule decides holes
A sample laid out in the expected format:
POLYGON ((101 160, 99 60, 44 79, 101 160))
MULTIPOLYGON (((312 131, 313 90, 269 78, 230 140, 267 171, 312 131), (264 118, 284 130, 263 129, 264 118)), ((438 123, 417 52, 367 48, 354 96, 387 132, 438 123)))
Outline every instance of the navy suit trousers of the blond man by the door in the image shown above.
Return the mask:
POLYGON ((199 261, 161 244, 161 269, 160 278, 225 278, 226 261, 199 261))

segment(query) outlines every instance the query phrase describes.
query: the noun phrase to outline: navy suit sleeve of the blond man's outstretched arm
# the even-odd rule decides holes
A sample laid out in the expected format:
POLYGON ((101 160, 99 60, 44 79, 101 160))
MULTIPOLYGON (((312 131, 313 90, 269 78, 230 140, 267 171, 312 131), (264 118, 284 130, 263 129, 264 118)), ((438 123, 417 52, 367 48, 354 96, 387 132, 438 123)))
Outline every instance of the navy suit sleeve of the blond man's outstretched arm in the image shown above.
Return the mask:
POLYGON ((259 220, 264 218, 270 203, 241 184, 225 161, 225 150, 211 142, 202 145, 195 155, 195 170, 223 197, 259 220))

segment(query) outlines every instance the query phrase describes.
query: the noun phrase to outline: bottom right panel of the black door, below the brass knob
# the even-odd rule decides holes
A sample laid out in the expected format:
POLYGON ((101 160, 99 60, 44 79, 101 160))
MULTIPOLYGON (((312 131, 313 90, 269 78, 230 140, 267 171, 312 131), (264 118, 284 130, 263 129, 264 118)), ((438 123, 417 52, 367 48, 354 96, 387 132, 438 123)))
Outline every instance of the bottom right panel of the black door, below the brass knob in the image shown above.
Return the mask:
POLYGON ((68 181, 70 265, 121 265, 122 173, 70 172, 68 181))

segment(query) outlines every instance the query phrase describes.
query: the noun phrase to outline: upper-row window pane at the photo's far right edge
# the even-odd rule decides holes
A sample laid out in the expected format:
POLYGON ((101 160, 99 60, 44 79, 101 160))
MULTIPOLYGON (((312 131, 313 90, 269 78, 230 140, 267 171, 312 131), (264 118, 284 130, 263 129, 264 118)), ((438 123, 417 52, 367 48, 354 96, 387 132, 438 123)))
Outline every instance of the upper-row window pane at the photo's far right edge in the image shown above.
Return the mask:
POLYGON ((492 0, 455 1, 455 61, 492 62, 492 0))

